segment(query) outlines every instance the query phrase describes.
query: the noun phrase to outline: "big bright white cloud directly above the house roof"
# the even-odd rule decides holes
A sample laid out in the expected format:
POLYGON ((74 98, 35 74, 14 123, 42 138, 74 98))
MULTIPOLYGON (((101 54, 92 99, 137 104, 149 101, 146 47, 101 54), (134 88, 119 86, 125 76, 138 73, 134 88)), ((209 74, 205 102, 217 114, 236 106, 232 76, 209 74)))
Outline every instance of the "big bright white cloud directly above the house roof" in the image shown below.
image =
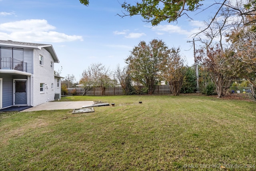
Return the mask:
POLYGON ((70 42, 80 40, 82 36, 67 35, 51 30, 56 27, 47 20, 21 20, 0 24, 0 36, 3 40, 22 42, 70 42))

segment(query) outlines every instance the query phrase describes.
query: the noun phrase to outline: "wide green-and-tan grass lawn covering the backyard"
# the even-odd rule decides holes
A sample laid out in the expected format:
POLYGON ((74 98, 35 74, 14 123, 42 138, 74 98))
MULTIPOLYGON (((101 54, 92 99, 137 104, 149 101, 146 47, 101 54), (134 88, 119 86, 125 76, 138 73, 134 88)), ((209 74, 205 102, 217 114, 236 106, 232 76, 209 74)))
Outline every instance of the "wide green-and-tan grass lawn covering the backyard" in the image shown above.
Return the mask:
POLYGON ((256 170, 255 102, 196 95, 62 98, 70 100, 115 107, 0 113, 0 170, 256 170))

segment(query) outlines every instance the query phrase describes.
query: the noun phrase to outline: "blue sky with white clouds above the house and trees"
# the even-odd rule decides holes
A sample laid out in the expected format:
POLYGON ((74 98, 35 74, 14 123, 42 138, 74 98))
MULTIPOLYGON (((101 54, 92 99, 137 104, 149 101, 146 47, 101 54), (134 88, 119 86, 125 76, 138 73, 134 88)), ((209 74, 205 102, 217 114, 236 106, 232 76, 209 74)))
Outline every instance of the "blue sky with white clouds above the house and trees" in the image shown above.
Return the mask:
POLYGON ((73 74, 77 81, 92 63, 111 70, 118 64, 126 66, 124 59, 142 40, 160 39, 169 48, 180 47, 188 65, 194 63, 192 43, 187 41, 203 27, 210 12, 191 13, 194 20, 190 22, 184 16, 178 23, 152 27, 140 16, 117 16, 124 10, 123 1, 90 0, 89 6, 84 6, 79 0, 0 0, 0 40, 52 44, 60 60, 54 70, 62 66, 61 76, 73 74))

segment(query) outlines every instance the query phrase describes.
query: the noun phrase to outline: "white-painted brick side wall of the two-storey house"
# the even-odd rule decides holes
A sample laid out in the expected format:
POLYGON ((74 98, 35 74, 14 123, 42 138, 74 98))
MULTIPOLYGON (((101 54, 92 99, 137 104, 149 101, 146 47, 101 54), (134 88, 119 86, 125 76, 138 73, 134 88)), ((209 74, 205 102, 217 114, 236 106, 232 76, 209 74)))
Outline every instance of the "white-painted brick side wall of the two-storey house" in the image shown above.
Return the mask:
POLYGON ((52 83, 54 84, 54 67, 51 68, 51 61, 54 62, 52 56, 44 48, 42 48, 42 50, 34 50, 34 74, 32 85, 33 106, 40 105, 48 101, 54 101, 55 90, 51 88, 52 83), (40 55, 43 56, 43 66, 39 63, 40 55), (45 84, 44 93, 40 93, 40 83, 45 84))

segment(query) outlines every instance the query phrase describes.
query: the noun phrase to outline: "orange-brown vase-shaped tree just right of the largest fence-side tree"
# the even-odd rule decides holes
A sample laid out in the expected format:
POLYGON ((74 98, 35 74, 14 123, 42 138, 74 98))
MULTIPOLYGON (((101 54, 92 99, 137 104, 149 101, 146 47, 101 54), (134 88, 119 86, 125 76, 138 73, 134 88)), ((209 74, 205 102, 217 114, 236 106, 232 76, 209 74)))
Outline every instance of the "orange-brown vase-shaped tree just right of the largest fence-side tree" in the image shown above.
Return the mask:
POLYGON ((172 48, 168 56, 161 63, 161 75, 170 85, 173 95, 180 95, 183 79, 186 74, 184 59, 180 56, 180 49, 172 48))

